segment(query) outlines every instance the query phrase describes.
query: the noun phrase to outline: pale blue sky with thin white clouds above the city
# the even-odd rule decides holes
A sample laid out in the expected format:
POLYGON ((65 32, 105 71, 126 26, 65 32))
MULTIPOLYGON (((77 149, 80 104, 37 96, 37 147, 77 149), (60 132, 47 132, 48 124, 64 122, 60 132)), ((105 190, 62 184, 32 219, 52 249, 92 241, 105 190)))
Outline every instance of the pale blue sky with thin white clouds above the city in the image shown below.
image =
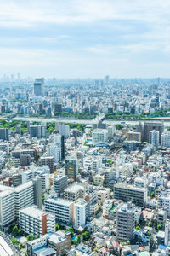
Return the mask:
POLYGON ((0 76, 170 77, 169 0, 0 0, 0 76))

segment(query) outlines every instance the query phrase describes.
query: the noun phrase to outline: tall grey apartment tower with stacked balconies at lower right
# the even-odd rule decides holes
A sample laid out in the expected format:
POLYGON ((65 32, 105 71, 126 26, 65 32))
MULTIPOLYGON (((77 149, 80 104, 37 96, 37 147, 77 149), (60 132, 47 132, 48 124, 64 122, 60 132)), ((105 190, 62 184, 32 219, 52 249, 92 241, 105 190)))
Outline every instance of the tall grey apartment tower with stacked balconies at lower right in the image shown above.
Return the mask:
POLYGON ((129 241, 133 239, 135 228, 135 208, 130 203, 124 204, 117 210, 117 239, 129 241))

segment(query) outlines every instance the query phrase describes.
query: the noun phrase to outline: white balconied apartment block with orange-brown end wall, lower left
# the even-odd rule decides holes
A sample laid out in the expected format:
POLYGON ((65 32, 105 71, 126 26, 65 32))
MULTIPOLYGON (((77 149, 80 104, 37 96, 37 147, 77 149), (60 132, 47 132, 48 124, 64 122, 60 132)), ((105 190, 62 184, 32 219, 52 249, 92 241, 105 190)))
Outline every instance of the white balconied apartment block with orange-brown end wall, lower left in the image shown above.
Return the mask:
POLYGON ((39 237, 55 231, 55 216, 33 205, 20 210, 19 224, 26 234, 39 237))

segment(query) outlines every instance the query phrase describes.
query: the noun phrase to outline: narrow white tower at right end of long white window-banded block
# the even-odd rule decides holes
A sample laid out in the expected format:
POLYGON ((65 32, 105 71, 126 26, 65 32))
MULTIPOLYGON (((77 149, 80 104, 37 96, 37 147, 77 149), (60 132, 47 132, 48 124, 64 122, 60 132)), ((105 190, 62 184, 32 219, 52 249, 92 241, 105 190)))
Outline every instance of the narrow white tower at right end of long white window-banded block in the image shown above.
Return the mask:
POLYGON ((74 206, 75 212, 75 229, 84 226, 89 217, 89 203, 83 199, 79 199, 74 206))

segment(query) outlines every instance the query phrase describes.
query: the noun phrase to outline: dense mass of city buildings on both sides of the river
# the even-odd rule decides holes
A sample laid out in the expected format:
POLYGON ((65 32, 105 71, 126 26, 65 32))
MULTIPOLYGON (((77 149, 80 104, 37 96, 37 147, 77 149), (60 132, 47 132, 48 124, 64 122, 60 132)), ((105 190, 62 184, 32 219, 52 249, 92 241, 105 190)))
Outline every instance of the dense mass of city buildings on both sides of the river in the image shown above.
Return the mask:
POLYGON ((84 90, 68 84, 47 90, 44 79, 36 79, 23 94, 17 87, 1 91, 6 92, 2 113, 99 113, 84 121, 84 129, 61 119, 53 126, 29 119, 25 129, 1 125, 0 250, 7 242, 7 255, 170 253, 168 125, 162 120, 115 124, 103 115, 167 109, 167 86, 161 91, 137 83, 131 96, 128 83, 124 91, 111 87, 108 78, 103 85, 91 83, 94 87, 84 82, 84 90), (15 226, 21 237, 11 232, 15 226))

